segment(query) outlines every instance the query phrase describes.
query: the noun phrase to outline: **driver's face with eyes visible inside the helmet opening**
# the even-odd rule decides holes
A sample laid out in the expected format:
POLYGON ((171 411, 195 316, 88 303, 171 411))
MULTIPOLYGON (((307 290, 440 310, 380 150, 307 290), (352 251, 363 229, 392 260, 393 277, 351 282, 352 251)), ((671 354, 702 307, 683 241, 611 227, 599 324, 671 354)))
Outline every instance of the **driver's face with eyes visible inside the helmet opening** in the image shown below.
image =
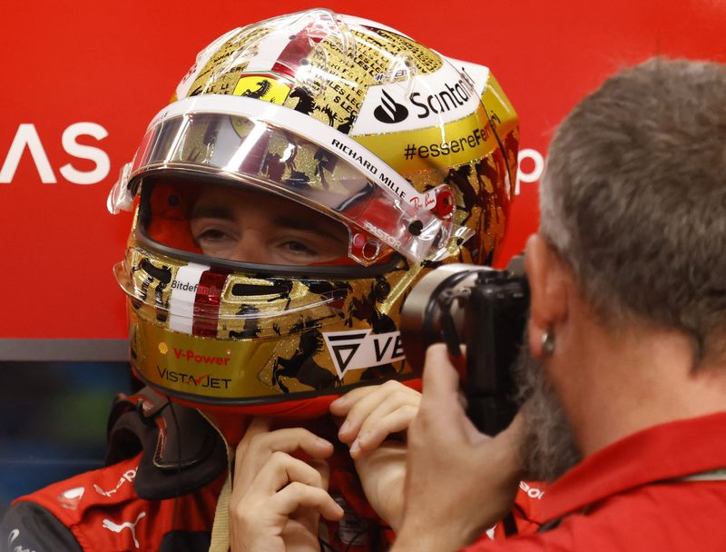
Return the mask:
POLYGON ((230 188, 201 192, 191 235, 210 257, 260 264, 316 264, 348 255, 348 232, 299 203, 230 188))

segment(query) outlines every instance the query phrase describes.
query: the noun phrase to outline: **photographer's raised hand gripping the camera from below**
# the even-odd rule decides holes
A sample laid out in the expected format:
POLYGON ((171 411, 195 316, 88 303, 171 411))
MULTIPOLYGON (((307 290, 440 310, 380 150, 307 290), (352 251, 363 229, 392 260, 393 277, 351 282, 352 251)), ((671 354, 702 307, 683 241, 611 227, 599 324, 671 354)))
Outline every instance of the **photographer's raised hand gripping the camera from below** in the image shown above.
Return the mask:
MULTIPOLYGON (((458 360, 456 360, 458 361, 458 360)), ((505 517, 521 475, 521 419, 495 438, 476 430, 458 398, 458 374, 436 344, 408 429, 406 499, 394 552, 457 550, 505 517)))

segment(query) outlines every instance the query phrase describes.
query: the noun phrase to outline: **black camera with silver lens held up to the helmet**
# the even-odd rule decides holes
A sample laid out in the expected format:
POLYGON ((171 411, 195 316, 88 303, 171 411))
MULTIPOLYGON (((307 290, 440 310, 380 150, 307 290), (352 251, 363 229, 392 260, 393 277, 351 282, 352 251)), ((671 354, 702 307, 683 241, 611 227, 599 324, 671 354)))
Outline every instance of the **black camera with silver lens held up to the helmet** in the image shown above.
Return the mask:
POLYGON ((414 370, 423 372, 432 343, 446 343, 452 356, 466 345, 466 414, 487 435, 505 429, 516 414, 512 369, 528 310, 524 255, 518 255, 505 270, 440 266, 417 283, 401 311, 401 342, 414 370))

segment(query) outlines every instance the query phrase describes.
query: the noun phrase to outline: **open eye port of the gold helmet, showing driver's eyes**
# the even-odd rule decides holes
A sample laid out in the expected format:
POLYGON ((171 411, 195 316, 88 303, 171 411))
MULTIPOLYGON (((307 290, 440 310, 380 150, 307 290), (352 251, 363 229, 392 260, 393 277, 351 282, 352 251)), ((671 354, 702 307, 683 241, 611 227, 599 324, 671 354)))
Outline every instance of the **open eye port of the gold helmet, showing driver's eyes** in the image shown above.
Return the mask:
MULTIPOLYGON (((349 230, 342 222, 279 194, 203 175, 144 179, 139 229, 152 242, 209 259, 349 263, 349 230)), ((386 250, 371 251, 378 258, 386 250)))

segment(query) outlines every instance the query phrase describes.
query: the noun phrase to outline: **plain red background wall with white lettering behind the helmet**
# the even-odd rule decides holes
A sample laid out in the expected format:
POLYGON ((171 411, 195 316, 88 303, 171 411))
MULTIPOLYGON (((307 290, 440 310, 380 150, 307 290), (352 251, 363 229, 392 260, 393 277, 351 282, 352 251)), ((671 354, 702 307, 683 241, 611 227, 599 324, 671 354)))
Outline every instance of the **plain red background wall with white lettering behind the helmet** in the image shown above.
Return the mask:
MULTIPOLYGON (((123 294, 111 267, 123 256, 131 215, 105 210, 121 165, 204 45, 233 27, 317 6, 240 0, 5 6, 0 339, 125 337, 123 294), (25 147, 14 150, 14 142, 25 147)), ((536 228, 537 162, 578 99, 606 75, 655 54, 726 62, 721 0, 368 0, 325 7, 380 21, 442 54, 492 69, 520 115, 524 150, 500 263, 536 228)))

